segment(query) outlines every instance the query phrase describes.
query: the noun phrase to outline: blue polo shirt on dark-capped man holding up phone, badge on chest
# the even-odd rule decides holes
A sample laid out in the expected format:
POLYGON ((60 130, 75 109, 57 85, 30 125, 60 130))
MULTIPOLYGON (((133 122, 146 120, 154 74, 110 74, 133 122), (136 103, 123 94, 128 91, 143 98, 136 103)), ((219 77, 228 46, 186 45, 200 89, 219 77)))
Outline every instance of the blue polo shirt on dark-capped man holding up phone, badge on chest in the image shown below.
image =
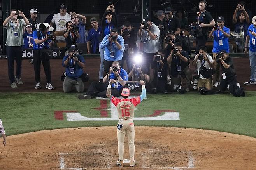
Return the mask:
MULTIPOLYGON (((227 27, 222 28, 223 31, 227 34, 230 34, 230 29, 227 27)), ((221 50, 226 50, 226 52, 229 53, 229 43, 228 43, 228 37, 226 37, 221 31, 216 30, 213 33, 213 49, 212 52, 217 53, 220 52, 221 50), (218 36, 219 33, 219 36, 218 36), (219 45, 219 40, 222 40, 222 45, 219 45)))

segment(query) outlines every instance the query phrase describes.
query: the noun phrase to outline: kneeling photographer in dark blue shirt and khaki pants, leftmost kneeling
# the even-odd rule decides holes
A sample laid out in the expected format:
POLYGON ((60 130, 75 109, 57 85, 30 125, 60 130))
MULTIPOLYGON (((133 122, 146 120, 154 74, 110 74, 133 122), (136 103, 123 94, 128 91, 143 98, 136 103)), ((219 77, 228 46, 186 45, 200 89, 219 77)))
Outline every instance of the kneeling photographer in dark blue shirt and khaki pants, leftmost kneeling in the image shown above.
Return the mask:
POLYGON ((84 82, 80 78, 84 73, 82 70, 85 66, 84 57, 77 54, 74 47, 68 49, 69 54, 64 56, 62 60, 62 66, 66 68, 66 77, 63 82, 64 93, 70 92, 73 85, 77 92, 84 91, 84 82))

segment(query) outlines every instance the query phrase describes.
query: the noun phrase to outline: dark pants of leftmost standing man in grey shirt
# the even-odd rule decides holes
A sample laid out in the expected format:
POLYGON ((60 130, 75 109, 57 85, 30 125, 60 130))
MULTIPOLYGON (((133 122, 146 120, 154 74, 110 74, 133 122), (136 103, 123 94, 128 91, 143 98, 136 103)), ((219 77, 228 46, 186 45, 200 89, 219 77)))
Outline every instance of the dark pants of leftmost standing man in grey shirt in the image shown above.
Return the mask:
POLYGON ((16 61, 16 77, 21 78, 21 62, 22 49, 21 46, 6 46, 6 54, 8 60, 8 76, 10 83, 15 82, 14 79, 14 60, 16 61))

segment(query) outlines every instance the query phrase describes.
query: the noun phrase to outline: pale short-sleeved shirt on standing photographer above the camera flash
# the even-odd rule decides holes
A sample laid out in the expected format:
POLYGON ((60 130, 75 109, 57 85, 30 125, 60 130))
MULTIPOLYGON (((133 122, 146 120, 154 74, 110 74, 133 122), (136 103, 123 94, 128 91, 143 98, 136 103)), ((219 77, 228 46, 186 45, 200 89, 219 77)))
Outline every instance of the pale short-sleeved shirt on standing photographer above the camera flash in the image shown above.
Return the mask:
POLYGON ((147 53, 155 53, 157 52, 160 48, 159 48, 159 33, 160 30, 158 28, 158 26, 156 26, 154 23, 152 23, 151 27, 149 28, 149 30, 151 31, 151 33, 153 33, 154 35, 157 35, 155 40, 152 40, 150 38, 150 36, 148 35, 147 31, 145 31, 144 29, 142 29, 142 39, 147 39, 146 43, 143 43, 143 51, 147 52, 147 53))

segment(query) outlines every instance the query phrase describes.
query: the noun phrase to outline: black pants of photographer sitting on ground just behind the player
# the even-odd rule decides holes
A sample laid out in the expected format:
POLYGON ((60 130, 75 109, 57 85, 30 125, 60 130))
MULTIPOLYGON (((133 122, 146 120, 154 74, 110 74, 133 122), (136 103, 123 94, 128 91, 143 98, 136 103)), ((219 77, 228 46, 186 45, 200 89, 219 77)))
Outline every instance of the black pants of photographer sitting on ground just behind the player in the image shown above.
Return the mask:
MULTIPOLYGON (((106 94, 107 94, 108 85, 109 85, 108 83, 92 82, 86 94, 107 98, 106 94), (98 93, 95 93, 96 91, 98 93)), ((113 88, 113 87, 111 87, 111 94, 114 95, 115 97, 121 96, 121 93, 117 90, 117 88, 113 88)))

